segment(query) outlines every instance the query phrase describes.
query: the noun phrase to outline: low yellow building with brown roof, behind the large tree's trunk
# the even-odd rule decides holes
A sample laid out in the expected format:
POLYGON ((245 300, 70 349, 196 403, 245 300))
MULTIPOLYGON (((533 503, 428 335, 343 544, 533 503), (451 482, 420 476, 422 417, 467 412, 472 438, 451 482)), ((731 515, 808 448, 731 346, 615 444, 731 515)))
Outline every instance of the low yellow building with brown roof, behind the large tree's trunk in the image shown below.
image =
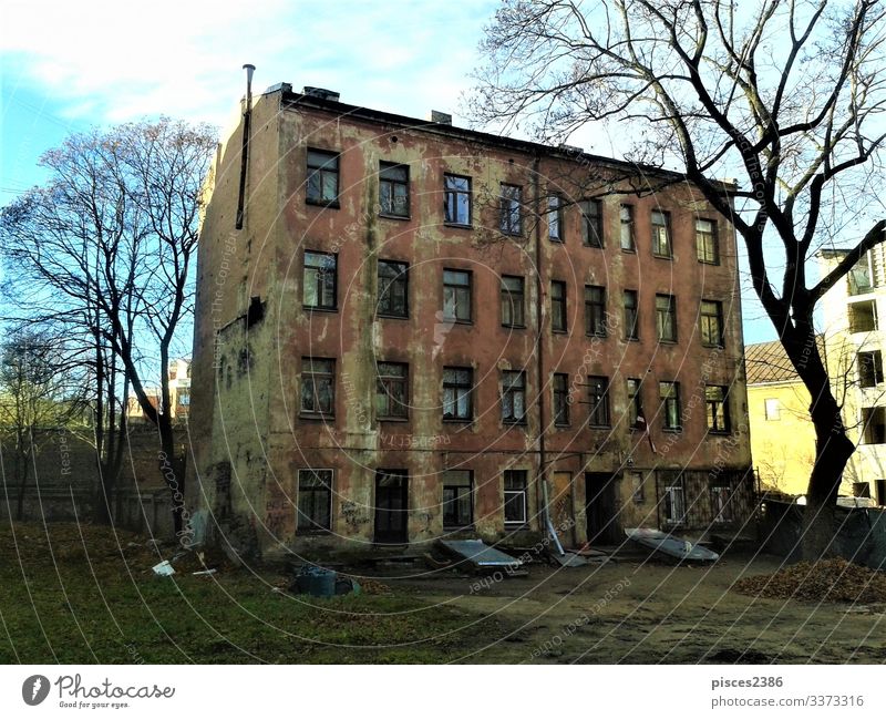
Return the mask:
POLYGON ((764 490, 805 494, 815 463, 810 393, 780 341, 749 345, 751 455, 764 490))

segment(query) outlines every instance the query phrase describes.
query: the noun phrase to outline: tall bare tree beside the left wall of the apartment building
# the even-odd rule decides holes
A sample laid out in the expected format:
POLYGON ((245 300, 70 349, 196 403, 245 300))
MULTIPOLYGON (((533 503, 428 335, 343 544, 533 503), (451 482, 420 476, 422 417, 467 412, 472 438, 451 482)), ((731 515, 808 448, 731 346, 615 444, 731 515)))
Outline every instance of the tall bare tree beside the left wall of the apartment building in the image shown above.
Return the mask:
MULTIPOLYGON (((49 185, 4 208, 0 225, 23 318, 64 318, 91 340, 96 388, 107 390, 96 391, 96 415, 110 420, 96 424, 96 443, 105 443, 105 427, 125 432, 130 387, 156 425, 158 466, 177 533, 184 524, 184 465, 168 366, 193 312, 200 194, 215 143, 208 126, 168 119, 74 135, 43 156, 52 172, 49 185), (161 387, 158 407, 146 378, 161 387), (112 401, 103 405, 103 397, 112 401), (115 417, 117 411, 124 415, 115 417)), ((113 459, 109 469, 116 474, 113 459)))

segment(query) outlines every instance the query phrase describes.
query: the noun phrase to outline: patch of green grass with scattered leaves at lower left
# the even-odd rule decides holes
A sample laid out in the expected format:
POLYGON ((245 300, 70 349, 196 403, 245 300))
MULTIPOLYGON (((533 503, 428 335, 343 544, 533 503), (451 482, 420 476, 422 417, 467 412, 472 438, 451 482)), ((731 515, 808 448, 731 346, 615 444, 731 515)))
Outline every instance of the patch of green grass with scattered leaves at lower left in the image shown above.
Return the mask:
POLYGON ((409 594, 317 599, 233 567, 155 576, 169 553, 109 527, 0 526, 0 661, 436 664, 501 631, 409 594))

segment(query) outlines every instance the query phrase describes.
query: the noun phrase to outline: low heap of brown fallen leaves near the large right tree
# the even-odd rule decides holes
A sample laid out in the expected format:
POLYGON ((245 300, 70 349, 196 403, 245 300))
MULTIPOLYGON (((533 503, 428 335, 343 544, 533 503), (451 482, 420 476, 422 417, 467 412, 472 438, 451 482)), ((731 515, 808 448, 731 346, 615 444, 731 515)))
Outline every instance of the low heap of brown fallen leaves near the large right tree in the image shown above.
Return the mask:
POLYGON ((801 562, 775 574, 740 579, 732 588, 767 599, 886 603, 886 574, 839 558, 801 562))

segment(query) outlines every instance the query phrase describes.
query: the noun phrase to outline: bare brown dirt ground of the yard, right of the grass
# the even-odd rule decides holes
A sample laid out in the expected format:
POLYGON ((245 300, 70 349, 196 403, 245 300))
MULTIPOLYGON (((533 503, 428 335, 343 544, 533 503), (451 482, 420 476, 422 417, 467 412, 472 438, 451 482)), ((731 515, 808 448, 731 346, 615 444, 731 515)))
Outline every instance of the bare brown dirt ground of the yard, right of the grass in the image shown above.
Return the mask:
MULTIPOLYGON (((773 556, 712 566, 652 559, 554 568, 526 577, 387 578, 429 603, 502 619, 468 662, 880 664, 886 606, 762 599, 730 590, 782 567, 773 556)), ((485 624, 485 623, 483 623, 485 624)), ((478 627, 478 630, 483 630, 478 627)))

